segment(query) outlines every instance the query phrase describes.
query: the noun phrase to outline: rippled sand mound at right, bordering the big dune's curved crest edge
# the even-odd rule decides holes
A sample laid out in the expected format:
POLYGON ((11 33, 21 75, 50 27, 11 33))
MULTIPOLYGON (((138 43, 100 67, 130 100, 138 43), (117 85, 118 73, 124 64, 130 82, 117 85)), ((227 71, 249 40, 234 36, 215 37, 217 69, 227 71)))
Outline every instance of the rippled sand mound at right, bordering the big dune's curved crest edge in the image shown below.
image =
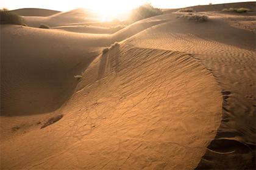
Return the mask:
POLYGON ((180 20, 175 21, 175 24, 171 21, 144 30, 129 41, 134 46, 144 48, 196 54, 196 58, 213 73, 221 86, 223 120, 216 140, 208 146, 198 168, 253 168, 256 76, 254 33, 235 29, 218 20, 204 24, 180 20), (246 88, 242 84, 247 84, 246 88))

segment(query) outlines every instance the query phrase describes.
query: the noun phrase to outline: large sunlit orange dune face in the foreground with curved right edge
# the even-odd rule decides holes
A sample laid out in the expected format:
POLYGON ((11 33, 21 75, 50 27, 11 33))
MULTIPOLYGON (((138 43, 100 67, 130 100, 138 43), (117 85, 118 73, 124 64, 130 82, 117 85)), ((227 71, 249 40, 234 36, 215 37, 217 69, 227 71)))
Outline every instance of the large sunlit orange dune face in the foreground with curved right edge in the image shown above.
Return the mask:
POLYGON ((116 46, 85 70, 62 120, 2 144, 2 168, 195 168, 219 126, 221 101, 193 56, 116 46))

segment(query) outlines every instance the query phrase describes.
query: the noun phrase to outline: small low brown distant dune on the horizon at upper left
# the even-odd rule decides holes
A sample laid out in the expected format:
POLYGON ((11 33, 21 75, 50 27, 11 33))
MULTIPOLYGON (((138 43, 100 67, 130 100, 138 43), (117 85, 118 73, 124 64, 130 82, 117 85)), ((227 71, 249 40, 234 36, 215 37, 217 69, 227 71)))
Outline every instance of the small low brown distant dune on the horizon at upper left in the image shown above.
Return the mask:
POLYGON ((46 10, 46 9, 16 9, 12 10, 21 16, 50 16, 59 13, 57 10, 46 10))

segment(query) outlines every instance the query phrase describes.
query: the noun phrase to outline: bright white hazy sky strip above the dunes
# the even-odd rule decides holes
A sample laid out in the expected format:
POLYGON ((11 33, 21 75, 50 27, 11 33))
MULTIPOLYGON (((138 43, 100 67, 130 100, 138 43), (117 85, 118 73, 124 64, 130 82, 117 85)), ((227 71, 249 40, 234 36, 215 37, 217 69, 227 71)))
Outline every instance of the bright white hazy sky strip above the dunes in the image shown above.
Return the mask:
MULTIPOLYGON (((250 1, 250 0, 247 0, 250 1)), ((178 8, 188 7, 191 5, 204 4, 221 4, 228 2, 241 2, 237 0, 0 0, 0 8, 21 9, 21 8, 41 8, 66 11, 76 8, 102 10, 107 7, 115 7, 119 10, 133 9, 137 5, 150 2, 155 7, 159 8, 178 8)))

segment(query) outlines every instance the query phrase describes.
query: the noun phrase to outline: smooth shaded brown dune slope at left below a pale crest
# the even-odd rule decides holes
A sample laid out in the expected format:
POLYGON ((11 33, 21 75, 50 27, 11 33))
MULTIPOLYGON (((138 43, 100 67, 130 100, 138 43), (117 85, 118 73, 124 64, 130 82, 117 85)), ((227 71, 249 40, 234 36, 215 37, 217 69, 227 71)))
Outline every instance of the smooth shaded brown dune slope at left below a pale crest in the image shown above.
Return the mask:
POLYGON ((54 30, 1 27, 1 114, 51 112, 73 93, 74 75, 107 38, 54 30))

